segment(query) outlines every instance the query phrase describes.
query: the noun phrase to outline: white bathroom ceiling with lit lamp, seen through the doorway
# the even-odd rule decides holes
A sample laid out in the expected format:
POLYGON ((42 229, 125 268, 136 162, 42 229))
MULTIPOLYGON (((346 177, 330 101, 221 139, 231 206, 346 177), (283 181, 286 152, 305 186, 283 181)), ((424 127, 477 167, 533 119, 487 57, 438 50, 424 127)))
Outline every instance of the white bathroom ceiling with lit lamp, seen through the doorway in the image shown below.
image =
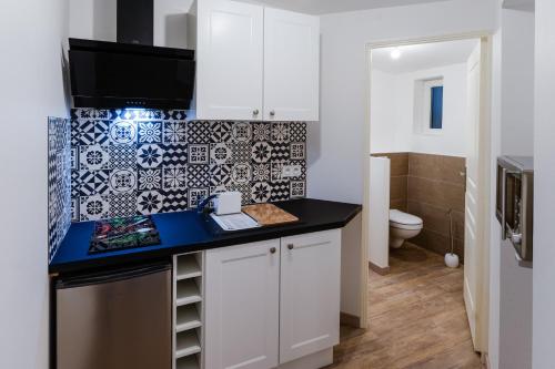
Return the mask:
POLYGON ((401 57, 391 58, 394 48, 372 50, 372 66, 389 73, 408 73, 430 68, 464 63, 478 40, 421 43, 400 47, 401 57))

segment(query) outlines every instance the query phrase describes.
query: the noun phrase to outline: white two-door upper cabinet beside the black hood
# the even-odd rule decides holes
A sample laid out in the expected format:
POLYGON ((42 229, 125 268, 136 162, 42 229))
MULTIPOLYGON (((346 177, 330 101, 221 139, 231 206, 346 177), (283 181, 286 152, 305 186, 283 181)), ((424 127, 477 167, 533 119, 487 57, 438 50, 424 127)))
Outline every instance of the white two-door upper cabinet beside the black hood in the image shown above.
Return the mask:
POLYGON ((196 2, 196 119, 317 121, 317 17, 196 2))

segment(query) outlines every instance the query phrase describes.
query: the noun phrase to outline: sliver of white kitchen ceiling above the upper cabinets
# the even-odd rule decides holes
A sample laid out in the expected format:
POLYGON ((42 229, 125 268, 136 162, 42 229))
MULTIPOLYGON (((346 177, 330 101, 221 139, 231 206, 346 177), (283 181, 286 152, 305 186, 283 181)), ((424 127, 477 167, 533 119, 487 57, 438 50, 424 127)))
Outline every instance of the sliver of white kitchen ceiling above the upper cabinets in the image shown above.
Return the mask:
MULTIPOLYGON (((251 0, 243 1, 252 2, 251 0)), ((326 14, 437 1, 447 0, 259 0, 256 2, 274 8, 299 11, 309 14, 326 14)))

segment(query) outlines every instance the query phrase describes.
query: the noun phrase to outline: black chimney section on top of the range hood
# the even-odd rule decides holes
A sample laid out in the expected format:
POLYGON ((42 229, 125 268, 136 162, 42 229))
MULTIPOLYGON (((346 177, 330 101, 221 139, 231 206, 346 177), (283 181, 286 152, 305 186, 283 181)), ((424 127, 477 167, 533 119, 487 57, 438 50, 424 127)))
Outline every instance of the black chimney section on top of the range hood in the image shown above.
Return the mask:
POLYGON ((154 0, 118 0, 118 42, 154 44, 154 0))

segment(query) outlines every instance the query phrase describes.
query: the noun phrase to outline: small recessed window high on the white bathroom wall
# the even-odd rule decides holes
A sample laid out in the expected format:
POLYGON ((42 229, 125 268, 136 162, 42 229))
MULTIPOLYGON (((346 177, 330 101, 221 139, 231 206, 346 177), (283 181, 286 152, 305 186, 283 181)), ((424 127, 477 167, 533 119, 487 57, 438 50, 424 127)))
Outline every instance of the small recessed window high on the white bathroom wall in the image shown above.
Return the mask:
POLYGON ((440 134, 443 130, 443 78, 415 81, 415 132, 440 134))

